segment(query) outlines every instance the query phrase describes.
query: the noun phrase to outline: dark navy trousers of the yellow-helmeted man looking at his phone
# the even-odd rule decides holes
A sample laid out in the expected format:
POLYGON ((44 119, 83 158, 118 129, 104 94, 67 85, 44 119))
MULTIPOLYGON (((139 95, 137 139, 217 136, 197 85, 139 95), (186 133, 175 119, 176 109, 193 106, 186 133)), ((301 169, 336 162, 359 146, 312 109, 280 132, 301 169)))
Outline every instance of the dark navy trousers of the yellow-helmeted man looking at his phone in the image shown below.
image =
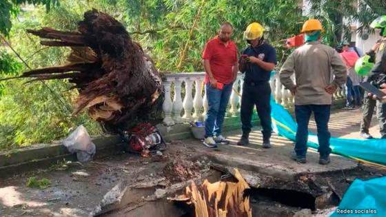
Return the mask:
POLYGON ((268 82, 243 84, 243 96, 241 97, 241 123, 243 134, 249 134, 252 129, 252 114, 256 106, 261 127, 263 127, 263 140, 270 139, 272 134, 271 123, 271 87, 268 82))

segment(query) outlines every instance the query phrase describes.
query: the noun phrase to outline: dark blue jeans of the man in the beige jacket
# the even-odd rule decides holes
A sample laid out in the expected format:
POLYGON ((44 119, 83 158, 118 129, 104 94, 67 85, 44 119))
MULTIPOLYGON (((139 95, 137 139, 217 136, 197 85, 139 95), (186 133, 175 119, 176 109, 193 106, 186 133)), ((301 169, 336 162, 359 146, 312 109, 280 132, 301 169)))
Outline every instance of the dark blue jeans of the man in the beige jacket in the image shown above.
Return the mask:
POLYGON ((331 153, 329 147, 331 134, 328 131, 330 109, 331 105, 295 105, 296 122, 298 123, 295 144, 296 155, 305 156, 307 154, 308 123, 311 112, 314 112, 318 131, 318 152, 321 156, 329 156, 331 153))

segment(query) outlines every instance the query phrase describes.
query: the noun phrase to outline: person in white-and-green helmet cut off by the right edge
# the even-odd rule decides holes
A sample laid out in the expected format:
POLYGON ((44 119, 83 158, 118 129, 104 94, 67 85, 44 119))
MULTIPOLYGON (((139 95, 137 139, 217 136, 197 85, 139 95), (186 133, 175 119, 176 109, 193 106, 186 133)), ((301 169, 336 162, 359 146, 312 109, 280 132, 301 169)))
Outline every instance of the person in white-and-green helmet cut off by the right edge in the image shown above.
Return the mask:
MULTIPOLYGON (((382 37, 376 49, 369 52, 370 56, 375 55, 375 65, 365 77, 365 82, 376 83, 376 87, 383 87, 386 83, 386 15, 378 17, 370 24, 371 28, 380 29, 382 37)), ((372 93, 374 94, 374 92, 372 93)), ((380 96, 379 96, 380 97, 380 96)), ((378 118, 381 138, 386 138, 386 104, 380 101, 376 102, 376 116, 378 118)))

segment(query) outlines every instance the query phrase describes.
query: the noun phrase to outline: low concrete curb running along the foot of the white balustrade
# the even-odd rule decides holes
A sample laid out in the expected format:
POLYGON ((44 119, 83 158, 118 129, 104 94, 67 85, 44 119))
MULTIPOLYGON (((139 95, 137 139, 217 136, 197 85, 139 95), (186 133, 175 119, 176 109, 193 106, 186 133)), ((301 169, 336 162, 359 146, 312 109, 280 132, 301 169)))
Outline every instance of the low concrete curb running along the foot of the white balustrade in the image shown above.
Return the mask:
MULTIPOLYGON (((335 110, 344 105, 345 101, 342 99, 336 101, 335 104, 332 105, 332 109, 335 110)), ((290 108, 290 112, 293 114, 293 108, 290 108)), ((258 120, 256 112, 254 112, 254 118, 252 120, 254 127, 260 125, 260 120, 258 120)), ((170 127, 159 125, 158 127, 166 141, 193 138, 188 123, 176 124, 170 127)), ((239 116, 228 116, 225 119, 223 131, 226 132, 237 129, 241 129, 239 116)), ((118 135, 99 136, 92 138, 92 141, 96 146, 94 159, 110 156, 123 150, 122 140, 118 135)), ((77 158, 74 154, 70 154, 61 143, 54 145, 37 144, 28 148, 16 149, 16 151, 14 149, 8 152, 0 152, 0 174, 3 178, 34 169, 48 168, 50 165, 63 160, 77 161, 77 158)))

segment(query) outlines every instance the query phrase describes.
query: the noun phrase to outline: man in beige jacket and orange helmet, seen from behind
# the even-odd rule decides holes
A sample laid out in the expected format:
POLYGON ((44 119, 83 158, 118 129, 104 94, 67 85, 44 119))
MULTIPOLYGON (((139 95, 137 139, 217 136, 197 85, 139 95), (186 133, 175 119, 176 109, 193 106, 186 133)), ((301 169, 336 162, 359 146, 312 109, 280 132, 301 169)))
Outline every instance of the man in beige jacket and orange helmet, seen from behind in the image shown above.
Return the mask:
POLYGON ((321 44, 322 30, 320 21, 305 21, 301 32, 305 33, 306 43, 288 56, 281 68, 280 80, 295 96, 298 130, 292 158, 299 163, 306 163, 308 123, 311 113, 314 112, 318 131, 319 164, 326 165, 330 162, 331 153, 328 122, 332 94, 346 82, 347 70, 338 52, 321 44), (294 73, 296 84, 291 79, 294 73))

